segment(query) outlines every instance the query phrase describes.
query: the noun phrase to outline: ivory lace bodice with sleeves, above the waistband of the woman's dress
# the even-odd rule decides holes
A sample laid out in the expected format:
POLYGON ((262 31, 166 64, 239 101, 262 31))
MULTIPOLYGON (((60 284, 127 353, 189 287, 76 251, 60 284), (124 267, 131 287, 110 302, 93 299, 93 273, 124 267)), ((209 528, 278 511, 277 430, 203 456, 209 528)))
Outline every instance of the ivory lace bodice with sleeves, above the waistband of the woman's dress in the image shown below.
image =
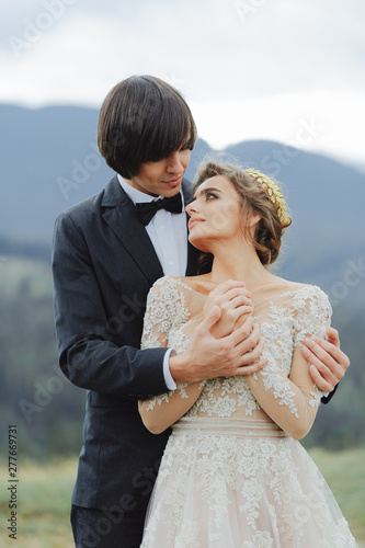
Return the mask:
MULTIPOLYGON (((169 346, 178 353, 183 352, 194 328, 203 319, 202 310, 206 298, 181 278, 164 276, 157 281, 148 295, 141 347, 169 346)), ((204 381, 201 395, 185 416, 265 419, 269 414, 277 422, 276 416, 271 413, 272 403, 267 403, 269 409, 262 398, 259 403, 260 390, 265 396, 264 401, 269 401, 270 397, 276 407, 285 408, 286 414, 289 412, 290 419, 303 415, 303 409, 299 411, 298 407, 301 400, 298 400, 296 386, 288 378, 293 354, 305 336, 326 336, 331 317, 328 297, 317 286, 303 285, 276 295, 274 299, 261 299, 253 304, 254 321, 260 324, 266 341, 263 356, 269 363, 249 378, 221 377, 204 381)), ((308 368, 303 357, 301 361, 300 366, 308 368)), ((307 373, 306 375, 309 376, 307 373)), ((187 398, 186 387, 187 384, 178 386, 178 393, 182 399, 187 398)), ((299 388, 300 396, 305 395, 306 398, 305 412, 309 408, 315 414, 321 398, 320 391, 311 379, 308 384, 307 378, 299 388)), ((147 409, 152 410, 156 404, 168 403, 173 393, 152 398, 147 409)))

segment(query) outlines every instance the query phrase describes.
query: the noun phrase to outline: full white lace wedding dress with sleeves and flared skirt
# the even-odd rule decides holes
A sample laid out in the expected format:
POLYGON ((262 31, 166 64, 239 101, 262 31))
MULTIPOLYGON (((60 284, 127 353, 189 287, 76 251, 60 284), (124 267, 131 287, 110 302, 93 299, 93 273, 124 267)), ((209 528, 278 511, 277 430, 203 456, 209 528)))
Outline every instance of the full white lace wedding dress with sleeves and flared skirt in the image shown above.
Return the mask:
MULTIPOLYGON (((159 279, 148 297, 142 347, 182 352, 205 300, 181 278, 159 279)), ((294 439, 303 427, 296 423, 310 427, 321 395, 307 376, 300 388, 290 383, 293 352, 307 334, 324 336, 328 298, 316 286, 299 286, 254 305, 269 363, 250 380, 201 384, 197 400, 172 426, 141 548, 356 547, 320 471, 294 439)), ((186 404, 187 387, 152 398, 148 410, 169 413, 176 398, 186 404)))

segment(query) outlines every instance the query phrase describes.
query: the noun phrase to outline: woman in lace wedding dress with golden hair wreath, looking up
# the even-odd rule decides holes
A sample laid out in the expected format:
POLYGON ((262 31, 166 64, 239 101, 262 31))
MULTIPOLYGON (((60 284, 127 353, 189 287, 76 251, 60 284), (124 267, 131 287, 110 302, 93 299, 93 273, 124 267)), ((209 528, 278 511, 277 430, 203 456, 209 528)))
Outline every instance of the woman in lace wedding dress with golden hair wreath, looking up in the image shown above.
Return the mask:
POLYGON ((208 162, 186 212, 190 241, 213 254, 212 272, 156 282, 142 349, 184 352, 195 327, 219 307, 213 334, 224 336, 243 322, 249 331, 260 329, 265 366, 251 376, 181 384, 138 402, 152 433, 172 426, 141 547, 355 547, 298 442, 321 399, 300 344, 326 336, 331 307, 319 287, 267 270, 290 224, 278 186, 255 170, 208 162))

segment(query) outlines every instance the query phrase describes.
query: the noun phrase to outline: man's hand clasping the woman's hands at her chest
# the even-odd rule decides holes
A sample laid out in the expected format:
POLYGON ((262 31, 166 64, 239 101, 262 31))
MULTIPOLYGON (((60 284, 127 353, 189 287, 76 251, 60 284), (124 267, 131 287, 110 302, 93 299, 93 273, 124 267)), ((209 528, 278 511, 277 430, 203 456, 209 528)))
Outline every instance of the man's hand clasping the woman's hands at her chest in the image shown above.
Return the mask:
POLYGON ((220 318, 220 308, 214 306, 194 330, 186 351, 170 357, 170 372, 176 384, 251 375, 267 363, 260 357, 265 341, 252 317, 232 333, 216 339, 212 329, 220 318))

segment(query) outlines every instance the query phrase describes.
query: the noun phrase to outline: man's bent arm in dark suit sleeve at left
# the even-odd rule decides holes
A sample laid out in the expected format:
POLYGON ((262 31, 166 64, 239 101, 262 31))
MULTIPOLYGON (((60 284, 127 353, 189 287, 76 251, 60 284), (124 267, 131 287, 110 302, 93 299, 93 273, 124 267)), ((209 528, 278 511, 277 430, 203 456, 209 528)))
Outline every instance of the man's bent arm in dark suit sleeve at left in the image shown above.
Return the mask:
POLYGON ((115 397, 167 391, 166 349, 140 351, 114 344, 101 333, 100 327, 109 320, 103 288, 84 235, 67 214, 55 224, 53 277, 59 364, 69 380, 115 397))

